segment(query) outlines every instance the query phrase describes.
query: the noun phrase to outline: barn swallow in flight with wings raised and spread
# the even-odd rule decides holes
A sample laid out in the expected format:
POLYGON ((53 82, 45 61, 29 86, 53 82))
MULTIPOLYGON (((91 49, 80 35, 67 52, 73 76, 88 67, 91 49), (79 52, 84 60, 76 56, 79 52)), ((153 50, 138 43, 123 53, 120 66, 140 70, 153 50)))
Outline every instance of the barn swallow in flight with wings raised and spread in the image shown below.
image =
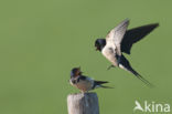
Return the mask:
POLYGON ((108 70, 110 68, 118 66, 120 69, 131 72, 147 85, 152 85, 131 68, 129 61, 125 58, 122 52, 130 54, 132 44, 149 34, 153 29, 159 25, 159 23, 138 27, 131 30, 127 30, 129 20, 126 19, 120 22, 116 28, 114 28, 107 34, 106 39, 97 39, 95 41, 96 50, 100 51, 103 55, 112 63, 112 65, 110 65, 108 70))

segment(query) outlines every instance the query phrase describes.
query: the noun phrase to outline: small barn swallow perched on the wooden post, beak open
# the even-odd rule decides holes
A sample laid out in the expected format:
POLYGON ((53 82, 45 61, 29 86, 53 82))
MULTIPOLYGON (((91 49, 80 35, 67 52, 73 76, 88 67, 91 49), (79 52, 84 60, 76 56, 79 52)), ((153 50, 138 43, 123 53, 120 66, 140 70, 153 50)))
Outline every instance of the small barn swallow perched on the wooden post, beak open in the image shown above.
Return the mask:
POLYGON ((95 81, 88 76, 84 76, 82 73, 80 68, 74 68, 71 71, 69 80, 69 83, 80 90, 80 92, 85 93, 97 87, 110 89, 109 86, 101 85, 108 83, 107 81, 95 81))

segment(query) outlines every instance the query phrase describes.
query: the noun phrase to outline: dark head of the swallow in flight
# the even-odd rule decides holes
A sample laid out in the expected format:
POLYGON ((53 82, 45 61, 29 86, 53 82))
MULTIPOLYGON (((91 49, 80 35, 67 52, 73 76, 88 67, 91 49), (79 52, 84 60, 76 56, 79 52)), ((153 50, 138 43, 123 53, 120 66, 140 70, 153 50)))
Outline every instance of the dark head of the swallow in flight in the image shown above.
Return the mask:
POLYGON ((105 39, 97 39, 95 41, 96 51, 101 51, 105 45, 106 45, 106 40, 105 39))

